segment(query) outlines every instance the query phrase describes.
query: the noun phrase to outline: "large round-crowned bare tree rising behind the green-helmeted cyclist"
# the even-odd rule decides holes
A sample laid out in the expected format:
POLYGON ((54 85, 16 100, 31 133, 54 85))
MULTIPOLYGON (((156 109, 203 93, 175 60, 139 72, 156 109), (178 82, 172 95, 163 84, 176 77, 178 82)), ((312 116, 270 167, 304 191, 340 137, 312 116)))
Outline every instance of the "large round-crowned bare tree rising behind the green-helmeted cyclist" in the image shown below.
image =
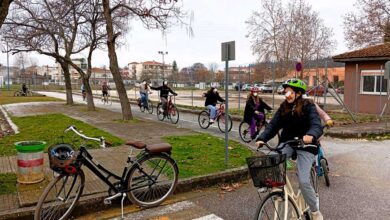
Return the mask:
POLYGON ((304 0, 264 0, 246 21, 252 51, 259 62, 276 62, 276 77, 285 76, 297 59, 326 56, 334 47, 332 30, 325 27, 304 0))

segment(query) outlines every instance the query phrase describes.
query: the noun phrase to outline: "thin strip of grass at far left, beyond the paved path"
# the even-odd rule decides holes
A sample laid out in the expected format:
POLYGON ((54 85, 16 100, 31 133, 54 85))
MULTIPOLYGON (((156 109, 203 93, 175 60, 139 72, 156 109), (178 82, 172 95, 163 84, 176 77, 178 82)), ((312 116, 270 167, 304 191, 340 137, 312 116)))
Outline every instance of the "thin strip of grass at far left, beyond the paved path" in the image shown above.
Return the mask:
POLYGON ((48 101, 63 101, 56 98, 46 96, 18 96, 14 97, 16 90, 1 90, 0 91, 0 105, 20 103, 20 102, 48 102, 48 101))

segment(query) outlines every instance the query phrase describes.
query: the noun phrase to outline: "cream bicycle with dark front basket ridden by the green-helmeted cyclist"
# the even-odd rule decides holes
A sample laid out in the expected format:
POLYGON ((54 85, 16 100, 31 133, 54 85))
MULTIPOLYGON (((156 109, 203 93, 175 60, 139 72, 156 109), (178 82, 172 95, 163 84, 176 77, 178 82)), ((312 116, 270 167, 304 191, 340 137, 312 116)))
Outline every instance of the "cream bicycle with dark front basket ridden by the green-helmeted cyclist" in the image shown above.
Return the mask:
MULTIPOLYGON (((255 218, 258 220, 310 219, 310 208, 305 202, 301 190, 294 191, 286 175, 286 155, 281 154, 281 150, 289 144, 298 147, 313 146, 305 145, 302 140, 287 141, 276 148, 265 143, 264 145, 268 149, 277 152, 277 154, 266 154, 246 159, 253 185, 258 188, 258 193, 269 192, 256 210, 255 218)), ((313 163, 310 178, 319 200, 315 163, 313 163)))

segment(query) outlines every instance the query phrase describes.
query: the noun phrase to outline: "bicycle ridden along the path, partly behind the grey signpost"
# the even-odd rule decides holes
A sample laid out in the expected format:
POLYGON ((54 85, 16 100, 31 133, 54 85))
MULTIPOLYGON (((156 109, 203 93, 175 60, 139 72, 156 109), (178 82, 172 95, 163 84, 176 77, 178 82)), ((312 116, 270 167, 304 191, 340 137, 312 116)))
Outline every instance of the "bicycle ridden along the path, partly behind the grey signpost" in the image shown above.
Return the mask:
MULTIPOLYGON (((228 132, 232 130, 233 121, 232 117, 228 114, 228 132)), ((219 104, 217 109, 217 115, 215 116, 215 121, 217 121, 218 128, 222 133, 225 133, 225 105, 223 103, 219 104)), ((207 129, 212 123, 210 122, 210 110, 203 110, 199 113, 198 116, 199 126, 203 129, 207 129)))

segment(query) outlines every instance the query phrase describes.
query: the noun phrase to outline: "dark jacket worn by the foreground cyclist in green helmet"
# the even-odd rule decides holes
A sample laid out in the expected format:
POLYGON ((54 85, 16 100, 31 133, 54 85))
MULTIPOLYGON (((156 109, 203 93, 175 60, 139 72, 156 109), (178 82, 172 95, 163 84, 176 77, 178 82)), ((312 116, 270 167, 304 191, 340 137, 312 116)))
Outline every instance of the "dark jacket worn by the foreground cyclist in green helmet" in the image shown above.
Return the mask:
MULTIPOLYGON (((282 105, 283 103, 281 106, 282 105)), ((302 111, 302 116, 298 116, 296 113, 292 114, 292 112, 283 116, 281 114, 282 110, 279 108, 269 125, 265 128, 265 131, 257 140, 267 142, 272 139, 280 129, 283 129, 279 142, 293 140, 295 137, 302 139, 304 135, 311 135, 314 137, 316 143, 316 140, 318 140, 323 133, 320 116, 318 115, 314 103, 306 99, 302 111)), ((308 147, 302 150, 317 154, 317 148, 308 147)))

